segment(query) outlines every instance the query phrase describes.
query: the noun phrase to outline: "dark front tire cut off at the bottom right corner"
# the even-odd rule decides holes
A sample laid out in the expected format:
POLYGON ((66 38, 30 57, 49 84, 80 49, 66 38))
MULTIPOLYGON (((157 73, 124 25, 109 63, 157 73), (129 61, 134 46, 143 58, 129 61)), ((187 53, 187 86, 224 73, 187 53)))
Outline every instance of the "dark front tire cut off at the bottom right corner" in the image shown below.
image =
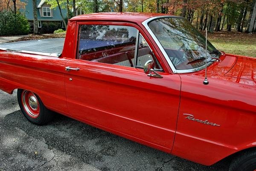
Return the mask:
POLYGON ((256 150, 246 151, 235 157, 229 171, 256 171, 256 150))

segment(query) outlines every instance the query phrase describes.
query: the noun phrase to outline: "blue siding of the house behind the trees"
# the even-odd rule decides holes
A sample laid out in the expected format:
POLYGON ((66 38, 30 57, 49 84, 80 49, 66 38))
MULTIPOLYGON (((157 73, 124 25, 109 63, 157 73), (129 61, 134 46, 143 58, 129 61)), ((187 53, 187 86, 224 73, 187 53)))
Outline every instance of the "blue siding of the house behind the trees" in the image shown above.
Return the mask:
MULTIPOLYGON (((21 2, 26 3, 25 9, 20 9, 20 12, 24 12, 26 18, 28 20, 34 20, 34 15, 33 15, 33 1, 32 0, 20 0, 21 2)), ((39 9, 41 6, 45 3, 45 0, 36 0, 37 1, 37 13, 38 13, 38 20, 46 20, 46 21, 62 21, 61 14, 58 8, 52 9, 52 16, 53 17, 43 17, 40 15, 39 9), (39 7, 40 5, 40 7, 39 7)), ((66 9, 61 9, 62 15, 64 17, 67 16, 67 10, 66 9)))

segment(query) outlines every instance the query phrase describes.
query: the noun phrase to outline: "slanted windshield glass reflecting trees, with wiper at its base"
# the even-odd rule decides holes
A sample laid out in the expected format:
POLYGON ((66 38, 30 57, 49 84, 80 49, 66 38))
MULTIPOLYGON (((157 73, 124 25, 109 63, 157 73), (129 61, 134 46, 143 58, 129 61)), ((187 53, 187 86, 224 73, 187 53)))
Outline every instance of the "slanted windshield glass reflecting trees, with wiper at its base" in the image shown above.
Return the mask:
MULTIPOLYGON (((189 70, 205 65, 205 37, 188 20, 166 17, 151 21, 151 31, 163 46, 176 70, 189 70)), ((218 52, 207 41, 207 62, 215 61, 218 52)))

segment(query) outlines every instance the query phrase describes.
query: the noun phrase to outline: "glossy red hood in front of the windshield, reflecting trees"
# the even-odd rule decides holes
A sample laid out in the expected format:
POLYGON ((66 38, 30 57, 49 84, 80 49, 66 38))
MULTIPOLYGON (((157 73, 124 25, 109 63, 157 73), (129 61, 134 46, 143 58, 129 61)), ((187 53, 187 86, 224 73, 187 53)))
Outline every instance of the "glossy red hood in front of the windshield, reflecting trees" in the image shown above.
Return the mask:
MULTIPOLYGON (((207 76, 256 86, 256 58, 224 54, 220 62, 207 67, 207 76)), ((204 76, 204 70, 196 75, 204 76)))

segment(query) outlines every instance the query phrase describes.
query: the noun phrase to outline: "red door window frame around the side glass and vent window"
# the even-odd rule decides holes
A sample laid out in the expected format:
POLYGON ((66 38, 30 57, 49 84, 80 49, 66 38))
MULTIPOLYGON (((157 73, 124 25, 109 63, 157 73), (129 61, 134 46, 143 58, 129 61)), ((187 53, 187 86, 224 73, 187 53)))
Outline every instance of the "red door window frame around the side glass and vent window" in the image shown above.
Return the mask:
POLYGON ((136 39, 136 45, 135 45, 135 52, 134 55, 136 53, 136 56, 134 56, 134 61, 137 60, 135 58, 137 58, 137 46, 138 46, 138 35, 141 34, 144 38, 144 40, 148 43, 149 48, 152 50, 153 54, 155 55, 155 58, 157 59, 157 61, 159 62, 160 66, 162 67, 163 70, 158 70, 156 69, 156 71, 161 71, 161 72, 165 72, 168 71, 169 72, 169 68, 166 67, 166 62, 163 61, 163 54, 159 53, 161 51, 157 50, 154 48, 153 43, 150 41, 150 39, 147 37, 147 35, 145 34, 145 31, 138 26, 135 23, 129 23, 129 22, 118 22, 118 21, 77 21, 76 22, 76 35, 75 35, 75 42, 74 42, 74 50, 73 50, 73 59, 79 60, 79 61, 84 61, 87 64, 93 64, 93 65, 99 65, 99 66, 108 66, 108 67, 124 67, 125 69, 128 68, 133 68, 136 70, 143 70, 143 68, 139 68, 136 67, 135 62, 134 62, 134 67, 125 67, 125 66, 120 66, 120 65, 114 65, 114 64, 106 64, 106 63, 99 63, 99 62, 93 62, 93 61, 86 61, 86 60, 80 60, 77 59, 77 54, 79 52, 79 26, 80 25, 113 25, 113 26, 130 26, 130 27, 134 27, 135 29, 137 29, 137 39, 136 39), (153 47, 153 48, 152 48, 153 47))

